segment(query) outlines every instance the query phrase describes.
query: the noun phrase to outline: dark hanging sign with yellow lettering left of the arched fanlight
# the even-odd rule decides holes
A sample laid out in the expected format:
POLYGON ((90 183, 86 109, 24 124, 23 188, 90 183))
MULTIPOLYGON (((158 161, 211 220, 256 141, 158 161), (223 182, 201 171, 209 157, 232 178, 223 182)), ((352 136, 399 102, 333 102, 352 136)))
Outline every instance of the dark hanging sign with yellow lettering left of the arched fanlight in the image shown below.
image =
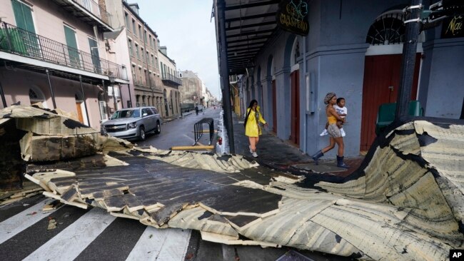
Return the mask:
POLYGON ((308 1, 307 0, 283 0, 279 4, 276 14, 278 26, 293 34, 307 36, 309 32, 308 23, 308 1))

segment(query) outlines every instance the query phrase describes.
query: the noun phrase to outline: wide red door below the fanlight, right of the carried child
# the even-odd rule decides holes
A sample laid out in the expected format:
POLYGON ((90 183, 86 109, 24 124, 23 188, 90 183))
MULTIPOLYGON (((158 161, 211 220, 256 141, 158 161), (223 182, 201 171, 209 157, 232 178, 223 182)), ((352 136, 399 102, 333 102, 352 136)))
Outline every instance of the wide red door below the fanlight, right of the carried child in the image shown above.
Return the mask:
MULTIPOLYGON (((368 150, 375 139, 375 121, 380 104, 396 102, 400 85, 401 56, 401 54, 365 56, 361 151, 368 150)), ((417 96, 419 68, 420 53, 415 58, 411 100, 415 100, 417 96)), ((347 101, 347 104, 350 104, 350 101, 347 101)))

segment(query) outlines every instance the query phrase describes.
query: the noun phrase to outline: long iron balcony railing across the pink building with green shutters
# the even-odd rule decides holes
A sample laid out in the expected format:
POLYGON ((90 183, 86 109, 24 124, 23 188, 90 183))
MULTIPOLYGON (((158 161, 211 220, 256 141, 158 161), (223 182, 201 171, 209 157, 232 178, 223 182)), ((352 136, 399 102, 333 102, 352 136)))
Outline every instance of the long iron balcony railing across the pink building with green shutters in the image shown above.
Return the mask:
POLYGON ((5 22, 0 23, 0 51, 127 80, 123 66, 5 22))

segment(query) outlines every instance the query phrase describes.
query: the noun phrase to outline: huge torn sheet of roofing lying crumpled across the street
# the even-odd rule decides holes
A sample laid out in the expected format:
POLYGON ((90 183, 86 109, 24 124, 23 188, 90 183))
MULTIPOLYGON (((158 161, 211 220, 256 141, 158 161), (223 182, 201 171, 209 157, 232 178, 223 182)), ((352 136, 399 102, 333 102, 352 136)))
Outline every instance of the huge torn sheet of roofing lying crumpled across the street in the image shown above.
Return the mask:
POLYGON ((270 171, 240 155, 136 148, 40 108, 12 106, 0 118, 0 138, 14 131, 19 147, 11 142, 0 153, 20 153, 24 177, 79 208, 199 230, 213 242, 372 260, 445 260, 463 247, 463 125, 405 123, 343 182, 313 185, 318 173, 270 171))

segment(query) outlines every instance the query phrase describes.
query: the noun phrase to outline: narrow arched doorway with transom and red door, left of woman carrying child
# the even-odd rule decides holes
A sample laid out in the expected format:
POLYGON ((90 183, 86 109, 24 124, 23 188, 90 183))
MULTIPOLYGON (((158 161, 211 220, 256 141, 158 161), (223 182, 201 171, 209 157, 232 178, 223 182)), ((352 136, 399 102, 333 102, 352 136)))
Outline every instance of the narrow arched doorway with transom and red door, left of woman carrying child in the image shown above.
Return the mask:
POLYGON ((298 39, 295 39, 290 57, 290 140, 297 146, 300 144, 300 66, 296 61, 298 57, 300 57, 300 43, 298 39))

